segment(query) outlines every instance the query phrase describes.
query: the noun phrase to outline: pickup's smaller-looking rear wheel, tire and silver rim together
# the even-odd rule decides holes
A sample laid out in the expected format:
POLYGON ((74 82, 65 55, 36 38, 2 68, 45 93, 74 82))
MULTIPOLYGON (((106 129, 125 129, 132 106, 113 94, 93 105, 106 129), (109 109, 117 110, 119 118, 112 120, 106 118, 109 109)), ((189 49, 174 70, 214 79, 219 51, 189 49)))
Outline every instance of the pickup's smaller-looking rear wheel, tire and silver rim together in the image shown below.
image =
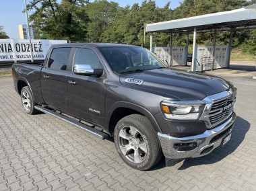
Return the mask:
POLYGON ((20 98, 22 100, 22 106, 27 114, 32 115, 38 112, 38 110, 34 108, 35 102, 28 86, 22 88, 22 91, 20 92, 20 98))

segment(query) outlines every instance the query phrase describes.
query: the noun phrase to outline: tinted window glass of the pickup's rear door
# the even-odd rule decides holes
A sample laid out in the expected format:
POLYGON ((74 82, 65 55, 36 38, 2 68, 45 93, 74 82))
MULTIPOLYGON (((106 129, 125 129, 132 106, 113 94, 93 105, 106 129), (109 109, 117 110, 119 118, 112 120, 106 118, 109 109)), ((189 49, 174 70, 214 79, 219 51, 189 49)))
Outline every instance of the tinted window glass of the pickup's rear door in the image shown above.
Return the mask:
POLYGON ((71 48, 55 48, 51 53, 48 67, 59 71, 67 70, 67 62, 69 59, 71 48))

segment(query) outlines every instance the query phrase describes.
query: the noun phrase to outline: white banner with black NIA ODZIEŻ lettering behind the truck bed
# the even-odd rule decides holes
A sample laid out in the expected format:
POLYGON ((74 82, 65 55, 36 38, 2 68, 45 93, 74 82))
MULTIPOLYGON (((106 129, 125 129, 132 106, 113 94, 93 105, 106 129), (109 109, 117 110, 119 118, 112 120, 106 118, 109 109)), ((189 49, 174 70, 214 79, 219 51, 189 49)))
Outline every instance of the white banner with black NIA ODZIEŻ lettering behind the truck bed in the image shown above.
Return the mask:
POLYGON ((0 39, 0 62, 31 60, 30 50, 34 60, 44 60, 52 44, 67 43, 67 40, 29 40, 0 39))

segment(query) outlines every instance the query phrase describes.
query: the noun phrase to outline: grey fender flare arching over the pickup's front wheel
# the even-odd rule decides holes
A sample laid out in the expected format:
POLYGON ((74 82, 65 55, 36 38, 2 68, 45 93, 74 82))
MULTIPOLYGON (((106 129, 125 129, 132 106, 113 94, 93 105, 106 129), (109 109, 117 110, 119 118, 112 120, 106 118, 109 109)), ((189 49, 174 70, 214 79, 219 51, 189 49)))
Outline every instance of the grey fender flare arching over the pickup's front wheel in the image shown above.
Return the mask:
POLYGON ((146 108, 143 108, 142 106, 139 106, 137 104, 133 104, 130 102, 117 102, 109 108, 108 113, 106 114, 106 121, 105 121, 105 126, 107 126, 108 129, 109 129, 109 123, 110 123, 111 116, 117 108, 128 108, 128 109, 135 110, 135 111, 143 114, 144 116, 146 116, 146 118, 148 118, 148 120, 150 120, 150 122, 151 122, 154 130, 156 130, 156 132, 162 132, 158 122, 156 121, 156 118, 154 118, 154 116, 150 113, 149 110, 147 110, 146 108))

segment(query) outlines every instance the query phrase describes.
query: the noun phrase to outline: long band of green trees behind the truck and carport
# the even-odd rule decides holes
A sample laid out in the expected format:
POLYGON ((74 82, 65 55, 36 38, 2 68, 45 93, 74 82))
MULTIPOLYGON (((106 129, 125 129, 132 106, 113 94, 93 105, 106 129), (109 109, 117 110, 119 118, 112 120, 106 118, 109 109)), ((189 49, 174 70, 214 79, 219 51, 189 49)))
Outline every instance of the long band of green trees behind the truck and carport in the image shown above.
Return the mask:
MULTIPOLYGON (((184 0, 172 10, 170 2, 160 8, 153 0, 141 1, 141 5, 119 7, 118 3, 106 0, 92 3, 88 0, 31 0, 28 9, 32 10, 30 22, 37 38, 149 44, 150 37, 144 34, 145 24, 229 11, 256 3, 256 0, 184 0)), ((230 32, 218 32, 217 44, 228 44, 229 35, 230 32)), ((169 34, 154 34, 154 44, 168 44, 169 38, 169 34)), ((186 35, 173 34, 172 38, 174 46, 185 46, 186 35)), ((235 31, 232 45, 251 44, 251 51, 255 39, 255 30, 235 31)), ((197 44, 212 44, 212 41, 213 33, 197 36, 197 44)))

